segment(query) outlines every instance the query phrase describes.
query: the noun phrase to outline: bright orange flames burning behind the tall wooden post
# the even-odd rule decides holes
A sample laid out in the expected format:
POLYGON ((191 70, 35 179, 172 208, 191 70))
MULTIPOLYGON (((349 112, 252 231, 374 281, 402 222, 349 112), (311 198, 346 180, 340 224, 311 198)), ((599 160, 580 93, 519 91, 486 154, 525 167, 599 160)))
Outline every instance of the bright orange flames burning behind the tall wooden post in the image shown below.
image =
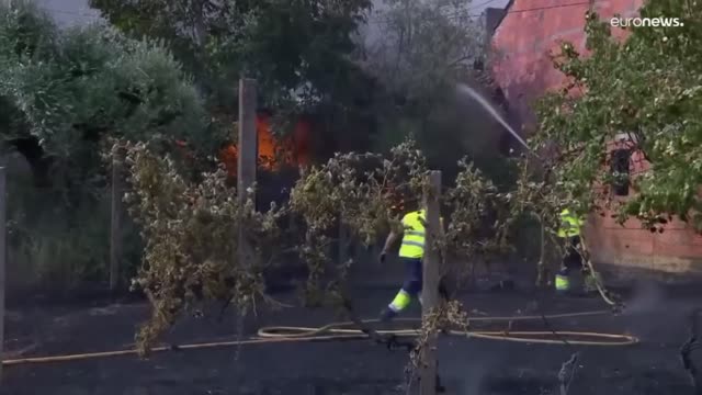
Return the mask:
MULTIPOLYGON (((258 135, 259 166, 271 171, 283 166, 305 166, 310 161, 309 154, 309 123, 299 120, 291 136, 276 138, 270 125, 270 117, 257 115, 256 129, 258 135)), ((219 156, 230 176, 237 174, 237 146, 231 144, 224 148, 219 156)))

